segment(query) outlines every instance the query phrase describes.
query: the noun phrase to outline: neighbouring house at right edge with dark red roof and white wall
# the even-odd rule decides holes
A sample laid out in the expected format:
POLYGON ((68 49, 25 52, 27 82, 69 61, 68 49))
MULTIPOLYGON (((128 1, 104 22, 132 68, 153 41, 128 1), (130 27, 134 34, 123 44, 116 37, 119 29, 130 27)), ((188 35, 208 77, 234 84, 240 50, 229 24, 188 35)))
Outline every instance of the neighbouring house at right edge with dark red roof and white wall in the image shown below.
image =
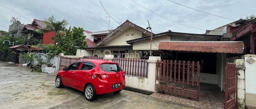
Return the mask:
MULTIPOLYGON (((227 38, 227 41, 242 41, 245 45, 244 54, 241 56, 227 56, 229 59, 244 59, 245 60, 245 98, 246 105, 256 107, 256 19, 238 20, 219 27, 213 31, 208 30, 207 34, 222 34, 218 31, 224 31, 223 37, 227 38)), ((226 62, 232 62, 225 60, 226 62)), ((238 86, 239 87, 239 86, 238 86)))

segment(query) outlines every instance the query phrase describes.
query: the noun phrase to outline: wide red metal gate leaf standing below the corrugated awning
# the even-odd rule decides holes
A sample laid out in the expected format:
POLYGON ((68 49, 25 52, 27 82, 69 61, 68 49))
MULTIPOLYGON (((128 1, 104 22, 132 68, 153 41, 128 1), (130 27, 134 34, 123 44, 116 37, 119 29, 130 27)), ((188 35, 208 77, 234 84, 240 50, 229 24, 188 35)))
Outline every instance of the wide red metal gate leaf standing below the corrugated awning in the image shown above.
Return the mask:
POLYGON ((156 64, 155 90, 189 99, 199 99, 199 62, 161 60, 156 64))

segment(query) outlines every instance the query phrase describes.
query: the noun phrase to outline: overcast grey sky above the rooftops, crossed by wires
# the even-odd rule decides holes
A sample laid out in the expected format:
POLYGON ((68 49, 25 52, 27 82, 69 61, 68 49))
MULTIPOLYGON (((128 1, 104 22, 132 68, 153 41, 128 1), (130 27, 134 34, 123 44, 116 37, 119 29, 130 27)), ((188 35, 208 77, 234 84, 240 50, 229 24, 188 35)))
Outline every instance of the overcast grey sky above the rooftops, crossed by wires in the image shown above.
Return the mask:
MULTIPOLYGON (((101 7, 99 0, 90 0, 101 7)), ((101 0, 106 11, 122 19, 124 22, 129 19, 134 24, 143 28, 148 27, 147 20, 150 21, 154 33, 174 32, 205 33, 204 30, 212 30, 232 22, 233 20, 216 17, 213 15, 198 12, 167 0, 134 0, 149 10, 162 15, 170 20, 181 24, 200 28, 194 29, 186 27, 165 18, 162 18, 131 0, 101 0)), ((205 11, 218 16, 238 20, 251 14, 256 15, 256 0, 172 0, 174 2, 205 11)), ((32 20, 42 20, 44 17, 54 15, 57 19, 67 19, 71 26, 83 27, 88 31, 107 30, 108 16, 104 10, 100 9, 88 0, 1 0, 0 4, 9 7, 24 17, 20 18, 22 24, 31 24, 32 20)), ((10 18, 20 15, 6 9, 0 5, 0 25, 9 28, 10 18)), ((118 18, 112 16, 118 22, 118 18)), ((117 22, 110 19, 110 29, 115 29, 117 22)), ((8 29, 0 27, 0 30, 8 29)))

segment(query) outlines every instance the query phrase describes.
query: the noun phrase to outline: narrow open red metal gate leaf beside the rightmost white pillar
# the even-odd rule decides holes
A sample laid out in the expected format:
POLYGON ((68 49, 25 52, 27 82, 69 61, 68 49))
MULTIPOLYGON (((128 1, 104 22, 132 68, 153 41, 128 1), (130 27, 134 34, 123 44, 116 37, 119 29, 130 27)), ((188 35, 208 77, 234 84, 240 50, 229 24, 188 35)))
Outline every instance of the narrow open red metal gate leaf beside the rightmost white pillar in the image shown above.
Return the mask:
POLYGON ((225 67, 225 103, 224 109, 237 108, 237 69, 236 64, 227 63, 225 67))

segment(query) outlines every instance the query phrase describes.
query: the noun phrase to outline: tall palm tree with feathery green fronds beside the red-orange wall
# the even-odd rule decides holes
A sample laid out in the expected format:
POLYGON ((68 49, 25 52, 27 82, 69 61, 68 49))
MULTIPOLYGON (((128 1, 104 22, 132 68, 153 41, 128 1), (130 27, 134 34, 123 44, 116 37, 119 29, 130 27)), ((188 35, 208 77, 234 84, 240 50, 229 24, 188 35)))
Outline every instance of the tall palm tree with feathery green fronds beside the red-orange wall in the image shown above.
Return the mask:
MULTIPOLYGON (((63 19, 61 21, 56 21, 56 19, 53 15, 51 17, 44 18, 43 21, 44 21, 45 27, 35 30, 36 32, 38 32, 40 34, 48 33, 48 32, 55 32, 56 34, 60 33, 60 32, 64 33, 66 26, 68 26, 68 24, 69 24, 68 20, 66 20, 66 19, 63 19)), ((56 34, 54 37, 56 37, 56 34)), ((56 44, 56 42, 55 42, 55 44, 56 44)))

